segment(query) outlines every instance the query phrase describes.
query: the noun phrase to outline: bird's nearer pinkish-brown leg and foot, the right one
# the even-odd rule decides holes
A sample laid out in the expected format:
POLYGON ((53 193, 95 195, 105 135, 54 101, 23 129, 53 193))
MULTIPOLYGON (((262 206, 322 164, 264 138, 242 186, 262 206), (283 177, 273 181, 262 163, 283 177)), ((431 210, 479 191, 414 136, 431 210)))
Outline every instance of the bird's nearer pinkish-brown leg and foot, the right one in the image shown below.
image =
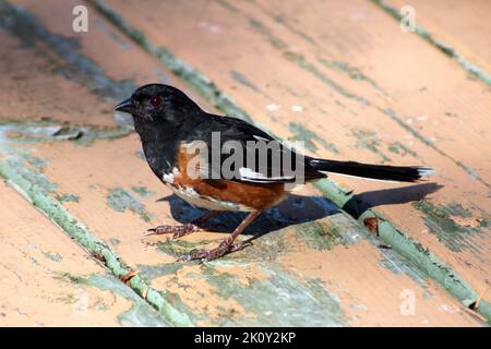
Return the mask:
POLYGON ((231 234, 227 237, 220 244, 213 250, 193 250, 188 255, 181 256, 180 261, 195 261, 200 260, 202 262, 213 261, 224 256, 227 253, 240 251, 246 248, 250 242, 247 243, 233 243, 238 236, 261 214, 261 212, 254 210, 246 217, 244 220, 233 230, 231 234))

